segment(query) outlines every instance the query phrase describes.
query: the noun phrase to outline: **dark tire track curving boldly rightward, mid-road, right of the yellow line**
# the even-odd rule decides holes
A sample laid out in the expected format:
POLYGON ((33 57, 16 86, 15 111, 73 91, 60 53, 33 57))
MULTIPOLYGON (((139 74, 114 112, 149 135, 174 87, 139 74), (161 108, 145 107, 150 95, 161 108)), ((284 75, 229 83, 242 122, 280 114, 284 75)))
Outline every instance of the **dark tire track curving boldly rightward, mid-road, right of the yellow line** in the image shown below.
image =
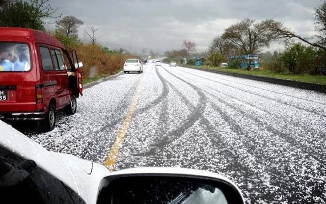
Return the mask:
MULTIPOLYGON (((162 68, 164 68, 164 67, 162 67, 162 68)), ((191 126, 193 126, 194 123, 200 119, 200 117, 204 113, 204 110, 207 105, 207 98, 206 98, 205 94, 200 89, 198 89, 193 84, 177 77, 176 75, 174 75, 173 73, 168 71, 166 68, 164 68, 164 70, 167 71, 168 73, 170 73, 176 79, 178 79, 178 80, 184 82, 185 84, 187 84, 188 86, 192 87, 197 92, 197 94, 199 96, 198 105, 196 106, 195 110, 187 116, 187 118, 185 119, 185 122, 183 123, 182 126, 178 127, 178 129, 176 129, 176 130, 173 130, 171 133, 167 133, 168 136, 164 137, 160 142, 152 145, 152 147, 150 148, 150 150, 148 152, 144 152, 144 153, 138 154, 136 156, 155 156, 156 152, 160 148, 173 142, 175 139, 182 136, 185 133, 185 131, 187 131, 191 126)))

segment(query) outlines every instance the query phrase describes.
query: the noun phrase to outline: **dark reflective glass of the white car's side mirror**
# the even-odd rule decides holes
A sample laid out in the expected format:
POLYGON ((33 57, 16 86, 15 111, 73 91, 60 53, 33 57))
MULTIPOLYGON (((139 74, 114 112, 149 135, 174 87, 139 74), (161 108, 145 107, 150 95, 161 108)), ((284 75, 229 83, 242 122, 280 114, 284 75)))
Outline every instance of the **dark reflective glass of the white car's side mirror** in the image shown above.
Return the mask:
POLYGON ((228 203, 223 192, 207 182, 183 177, 137 176, 111 181, 100 203, 228 203))

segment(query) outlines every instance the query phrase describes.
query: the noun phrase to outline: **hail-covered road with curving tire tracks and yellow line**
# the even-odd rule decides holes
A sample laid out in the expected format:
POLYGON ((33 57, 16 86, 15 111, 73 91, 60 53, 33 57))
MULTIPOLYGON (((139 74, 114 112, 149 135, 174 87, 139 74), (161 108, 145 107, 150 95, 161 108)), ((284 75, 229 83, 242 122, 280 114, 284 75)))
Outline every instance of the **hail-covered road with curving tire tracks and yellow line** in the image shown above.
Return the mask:
POLYGON ((111 169, 219 172, 248 203, 326 202, 326 95, 148 64, 85 90, 74 116, 28 133, 111 169))

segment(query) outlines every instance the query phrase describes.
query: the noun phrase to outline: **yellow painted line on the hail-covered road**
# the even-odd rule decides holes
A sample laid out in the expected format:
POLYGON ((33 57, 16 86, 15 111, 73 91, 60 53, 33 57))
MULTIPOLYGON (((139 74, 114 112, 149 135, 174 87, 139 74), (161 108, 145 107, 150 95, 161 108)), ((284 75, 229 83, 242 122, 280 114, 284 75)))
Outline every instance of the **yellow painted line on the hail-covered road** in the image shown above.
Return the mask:
MULTIPOLYGON (((142 74, 143 75, 143 74, 142 74)), ((142 90, 142 86, 143 86, 143 78, 140 79, 140 82, 138 84, 138 88, 137 88, 137 92, 134 96, 134 99, 130 105, 130 108, 128 110, 128 113, 127 113, 127 116, 126 118, 124 119, 123 121, 123 124, 122 124, 122 127, 121 129, 119 130, 118 132, 118 136, 110 150, 110 154, 108 154, 107 158, 105 159, 105 162, 104 162, 104 165, 110 169, 110 171, 114 171, 115 170, 115 165, 117 163, 117 159, 118 159, 118 156, 119 156, 119 152, 120 152, 120 149, 122 147, 122 144, 124 142, 124 139, 125 139, 125 136, 128 132, 128 127, 129 127, 129 123, 131 122, 131 119, 132 119, 132 116, 133 116, 133 113, 137 107, 137 103, 138 103, 138 100, 141 96, 141 90, 142 90)))

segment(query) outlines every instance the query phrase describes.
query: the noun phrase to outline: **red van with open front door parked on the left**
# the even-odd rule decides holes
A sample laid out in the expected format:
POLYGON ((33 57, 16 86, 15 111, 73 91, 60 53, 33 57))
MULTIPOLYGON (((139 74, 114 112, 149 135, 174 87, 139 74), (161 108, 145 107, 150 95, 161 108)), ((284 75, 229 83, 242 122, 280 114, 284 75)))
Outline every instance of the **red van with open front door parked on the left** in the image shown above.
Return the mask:
POLYGON ((0 28, 0 119, 34 120, 46 131, 56 112, 74 114, 83 82, 76 53, 46 33, 0 28))

